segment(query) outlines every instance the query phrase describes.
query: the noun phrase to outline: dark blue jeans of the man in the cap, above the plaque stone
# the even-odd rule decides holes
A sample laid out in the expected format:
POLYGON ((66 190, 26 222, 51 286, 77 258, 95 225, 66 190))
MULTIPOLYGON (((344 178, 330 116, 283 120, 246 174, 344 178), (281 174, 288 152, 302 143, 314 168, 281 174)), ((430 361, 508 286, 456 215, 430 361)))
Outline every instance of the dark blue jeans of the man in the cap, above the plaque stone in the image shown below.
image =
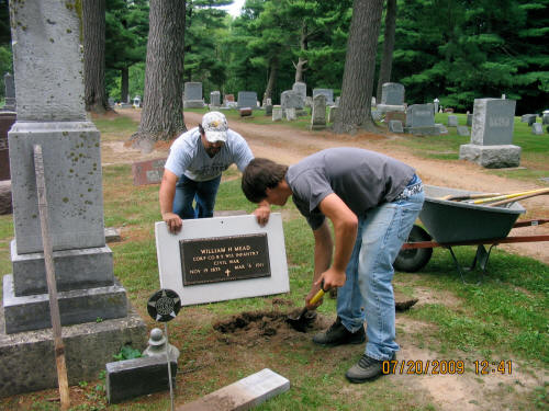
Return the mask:
POLYGON ((221 175, 209 181, 194 181, 181 175, 176 184, 173 213, 182 219, 213 217, 215 196, 220 187, 221 175), (197 209, 192 202, 197 199, 197 209))

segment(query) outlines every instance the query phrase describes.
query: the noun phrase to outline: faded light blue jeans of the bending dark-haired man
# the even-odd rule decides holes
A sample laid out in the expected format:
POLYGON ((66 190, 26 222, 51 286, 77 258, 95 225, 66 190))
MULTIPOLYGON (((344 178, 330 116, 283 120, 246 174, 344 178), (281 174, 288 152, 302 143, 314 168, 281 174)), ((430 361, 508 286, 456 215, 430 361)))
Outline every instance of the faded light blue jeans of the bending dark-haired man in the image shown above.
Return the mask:
POLYGON ((357 241, 347 265, 347 279, 337 290, 337 315, 355 332, 367 322, 365 353, 391 359, 395 339, 393 262, 423 207, 424 192, 385 203, 358 219, 357 241))

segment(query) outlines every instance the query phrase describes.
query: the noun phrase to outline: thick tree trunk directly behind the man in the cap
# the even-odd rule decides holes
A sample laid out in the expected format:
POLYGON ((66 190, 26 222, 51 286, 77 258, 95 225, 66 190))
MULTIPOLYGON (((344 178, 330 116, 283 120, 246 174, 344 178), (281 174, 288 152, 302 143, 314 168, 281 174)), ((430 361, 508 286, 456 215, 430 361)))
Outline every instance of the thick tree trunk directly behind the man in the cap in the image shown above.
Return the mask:
POLYGON ((133 139, 169 140, 187 130, 181 99, 184 7, 181 0, 150 0, 143 112, 133 139))

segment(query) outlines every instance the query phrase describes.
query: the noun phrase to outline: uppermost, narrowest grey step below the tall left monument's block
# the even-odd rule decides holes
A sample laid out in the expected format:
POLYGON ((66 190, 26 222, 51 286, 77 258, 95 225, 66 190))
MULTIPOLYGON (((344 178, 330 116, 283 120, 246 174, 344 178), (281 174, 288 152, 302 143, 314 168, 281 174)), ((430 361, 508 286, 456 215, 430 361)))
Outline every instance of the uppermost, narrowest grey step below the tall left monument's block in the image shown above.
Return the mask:
MULTIPOLYGON (((112 251, 108 246, 53 252, 57 289, 105 287, 114 284, 112 251)), ((44 253, 18 254, 11 241, 13 286, 16 297, 46 294, 44 253)))

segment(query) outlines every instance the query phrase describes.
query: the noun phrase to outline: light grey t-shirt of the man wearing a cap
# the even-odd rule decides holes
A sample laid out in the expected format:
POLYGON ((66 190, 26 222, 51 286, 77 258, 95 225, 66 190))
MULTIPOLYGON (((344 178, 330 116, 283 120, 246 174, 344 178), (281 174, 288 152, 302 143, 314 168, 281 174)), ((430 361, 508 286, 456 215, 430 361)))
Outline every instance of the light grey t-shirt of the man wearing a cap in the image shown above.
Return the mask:
POLYGON ((210 157, 200 138, 199 128, 194 127, 173 141, 164 167, 178 178, 184 174, 193 181, 209 181, 233 163, 244 171, 253 158, 254 155, 244 137, 232 129, 227 130, 227 140, 221 150, 210 157))

